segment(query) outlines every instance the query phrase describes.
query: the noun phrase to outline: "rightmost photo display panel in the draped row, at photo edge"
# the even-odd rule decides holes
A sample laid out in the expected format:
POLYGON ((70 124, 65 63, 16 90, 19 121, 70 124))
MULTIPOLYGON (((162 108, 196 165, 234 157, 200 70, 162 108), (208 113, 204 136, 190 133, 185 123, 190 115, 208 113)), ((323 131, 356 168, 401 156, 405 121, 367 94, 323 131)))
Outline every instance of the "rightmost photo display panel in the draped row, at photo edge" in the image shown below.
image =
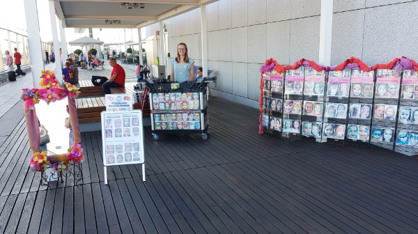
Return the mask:
POLYGON ((396 118, 394 150, 404 155, 417 155, 418 150, 418 72, 403 71, 401 98, 396 118), (404 137, 406 136, 406 139, 404 137))

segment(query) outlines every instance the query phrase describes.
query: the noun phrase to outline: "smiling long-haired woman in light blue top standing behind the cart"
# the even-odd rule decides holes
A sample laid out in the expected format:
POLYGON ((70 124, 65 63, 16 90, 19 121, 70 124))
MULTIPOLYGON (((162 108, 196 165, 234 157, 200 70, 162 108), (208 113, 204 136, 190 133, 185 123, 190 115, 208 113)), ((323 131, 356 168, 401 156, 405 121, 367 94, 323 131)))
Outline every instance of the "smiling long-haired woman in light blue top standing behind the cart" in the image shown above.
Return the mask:
POLYGON ((176 59, 171 60, 171 81, 192 81, 194 79, 194 60, 187 55, 187 45, 177 45, 176 59))

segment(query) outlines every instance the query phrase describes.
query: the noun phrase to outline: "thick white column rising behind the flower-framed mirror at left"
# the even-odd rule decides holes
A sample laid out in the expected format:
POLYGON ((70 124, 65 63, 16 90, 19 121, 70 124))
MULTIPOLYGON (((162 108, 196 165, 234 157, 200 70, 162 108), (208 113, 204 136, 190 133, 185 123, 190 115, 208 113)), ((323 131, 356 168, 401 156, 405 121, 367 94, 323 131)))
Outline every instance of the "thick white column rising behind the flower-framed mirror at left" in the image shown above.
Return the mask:
POLYGON ((31 58, 31 70, 33 86, 40 88, 39 77, 42 70, 45 70, 42 45, 40 42, 38 10, 36 0, 24 0, 24 12, 26 16, 26 28, 28 30, 28 47, 31 58))

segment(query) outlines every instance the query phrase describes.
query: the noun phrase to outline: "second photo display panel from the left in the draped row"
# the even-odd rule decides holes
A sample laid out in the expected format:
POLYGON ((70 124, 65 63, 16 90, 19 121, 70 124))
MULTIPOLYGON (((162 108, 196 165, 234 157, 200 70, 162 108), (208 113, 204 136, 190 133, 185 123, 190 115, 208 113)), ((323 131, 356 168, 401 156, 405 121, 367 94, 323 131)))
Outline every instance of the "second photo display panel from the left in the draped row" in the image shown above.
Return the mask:
POLYGON ((301 139, 304 66, 297 70, 287 70, 284 78, 284 99, 282 137, 301 139))

